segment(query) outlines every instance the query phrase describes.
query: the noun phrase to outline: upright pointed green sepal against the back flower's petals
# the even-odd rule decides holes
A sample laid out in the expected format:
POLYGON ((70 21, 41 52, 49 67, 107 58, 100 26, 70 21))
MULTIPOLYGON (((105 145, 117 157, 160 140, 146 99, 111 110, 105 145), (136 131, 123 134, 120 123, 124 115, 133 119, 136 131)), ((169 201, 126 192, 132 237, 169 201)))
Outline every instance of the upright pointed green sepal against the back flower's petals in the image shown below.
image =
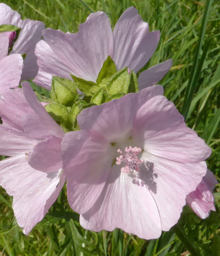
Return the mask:
POLYGON ((103 63, 100 73, 98 73, 96 83, 99 85, 103 79, 111 77, 116 72, 117 72, 116 64, 114 64, 112 58, 108 56, 106 61, 103 63))

